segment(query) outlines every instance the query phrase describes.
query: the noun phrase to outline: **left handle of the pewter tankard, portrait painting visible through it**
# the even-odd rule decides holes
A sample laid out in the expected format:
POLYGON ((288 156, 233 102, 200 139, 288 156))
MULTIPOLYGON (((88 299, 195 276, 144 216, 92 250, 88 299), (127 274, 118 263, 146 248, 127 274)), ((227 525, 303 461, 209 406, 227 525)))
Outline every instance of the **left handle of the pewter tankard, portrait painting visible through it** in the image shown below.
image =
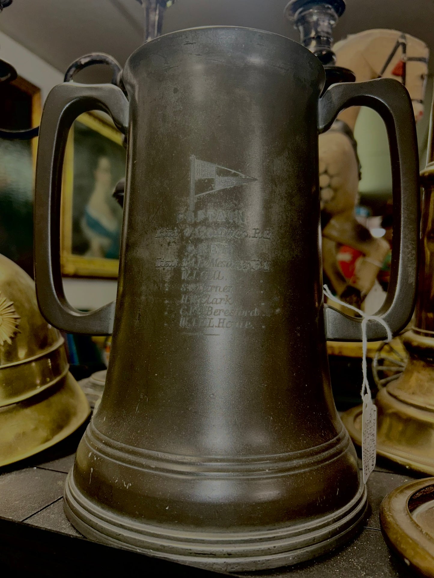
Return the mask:
POLYGON ((34 208, 34 264, 36 296, 49 323, 67 331, 110 335, 115 302, 83 313, 65 298, 60 266, 60 199, 62 166, 73 121, 89 110, 102 110, 126 132, 128 101, 113 84, 65 83, 47 96, 39 128, 34 208))

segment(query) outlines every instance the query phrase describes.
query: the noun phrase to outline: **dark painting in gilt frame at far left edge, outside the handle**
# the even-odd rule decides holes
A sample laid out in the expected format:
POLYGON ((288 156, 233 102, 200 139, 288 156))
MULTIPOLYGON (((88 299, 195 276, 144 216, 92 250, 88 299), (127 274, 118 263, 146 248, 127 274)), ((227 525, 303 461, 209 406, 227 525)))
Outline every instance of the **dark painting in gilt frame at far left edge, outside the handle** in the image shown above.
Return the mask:
MULTIPOLYGON (((20 130, 41 120, 41 91, 21 78, 2 83, 0 127, 20 130)), ((37 138, 0 138, 0 253, 33 277, 33 191, 37 138)))

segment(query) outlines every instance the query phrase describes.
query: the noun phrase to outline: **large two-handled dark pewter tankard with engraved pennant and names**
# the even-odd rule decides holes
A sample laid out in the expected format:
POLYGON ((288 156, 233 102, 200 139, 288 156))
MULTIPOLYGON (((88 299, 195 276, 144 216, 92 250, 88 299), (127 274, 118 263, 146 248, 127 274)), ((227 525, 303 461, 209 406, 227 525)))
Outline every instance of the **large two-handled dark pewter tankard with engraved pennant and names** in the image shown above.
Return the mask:
MULTIPOLYGON (((65 490, 84 535, 187 564, 252 570, 348 539, 366 509, 334 407, 328 339, 359 319, 323 305, 318 133, 345 106, 387 124, 393 269, 382 317, 413 310, 417 147, 393 80, 340 84, 306 48, 247 28, 161 36, 109 85, 62 84, 39 138, 35 272, 56 327, 109 334, 101 405, 65 490), (59 263, 68 129, 101 109, 128 131, 116 306, 71 307, 59 263), (128 126, 128 128, 127 128, 128 126)), ((384 338, 376 323, 369 339, 384 338)))

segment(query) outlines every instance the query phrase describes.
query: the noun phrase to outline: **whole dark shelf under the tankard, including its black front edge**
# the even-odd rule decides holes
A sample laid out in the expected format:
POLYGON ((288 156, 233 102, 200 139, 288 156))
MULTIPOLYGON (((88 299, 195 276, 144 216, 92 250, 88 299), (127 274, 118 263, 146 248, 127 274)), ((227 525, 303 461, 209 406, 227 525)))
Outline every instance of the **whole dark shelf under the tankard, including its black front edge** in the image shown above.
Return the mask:
MULTIPOLYGON (((105 546, 83 538, 63 511, 63 487, 83 430, 18 464, 0 469, 0 566, 3 576, 218 576, 214 572, 105 546), (130 570, 126 572, 126 568, 130 570), (9 571, 9 573, 8 573, 9 571)), ((367 482, 369 510, 351 542, 314 561, 242 576, 291 578, 407 578, 413 576, 384 542, 378 517, 382 498, 425 477, 385 460, 367 482)))

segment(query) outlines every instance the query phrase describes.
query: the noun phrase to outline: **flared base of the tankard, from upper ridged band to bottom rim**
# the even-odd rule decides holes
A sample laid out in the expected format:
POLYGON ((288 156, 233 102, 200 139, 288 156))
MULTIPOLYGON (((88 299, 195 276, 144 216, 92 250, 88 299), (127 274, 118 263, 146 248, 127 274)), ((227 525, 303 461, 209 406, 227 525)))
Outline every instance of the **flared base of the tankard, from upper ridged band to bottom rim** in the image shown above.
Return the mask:
MULTIPOLYGON (((237 572, 296 564, 346 542, 366 513, 366 488, 356 480, 346 431, 330 441, 314 449, 315 458, 286 456, 286 464, 276 462, 282 456, 246 457, 241 464, 143 454, 126 463, 90 428, 67 479, 65 512, 90 539, 201 568, 237 572)), ((131 455, 131 448, 117 450, 131 455)))

